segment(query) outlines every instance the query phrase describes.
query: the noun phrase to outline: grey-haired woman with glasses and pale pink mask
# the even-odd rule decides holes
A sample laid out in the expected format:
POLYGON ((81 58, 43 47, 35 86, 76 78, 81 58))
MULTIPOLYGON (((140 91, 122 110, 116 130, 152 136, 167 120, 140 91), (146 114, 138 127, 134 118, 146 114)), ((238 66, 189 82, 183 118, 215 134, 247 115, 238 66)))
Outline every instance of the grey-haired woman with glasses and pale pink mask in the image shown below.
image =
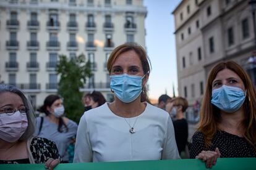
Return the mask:
POLYGON ((54 142, 34 133, 30 100, 16 87, 0 84, 0 164, 43 163, 53 169, 60 163, 54 142))

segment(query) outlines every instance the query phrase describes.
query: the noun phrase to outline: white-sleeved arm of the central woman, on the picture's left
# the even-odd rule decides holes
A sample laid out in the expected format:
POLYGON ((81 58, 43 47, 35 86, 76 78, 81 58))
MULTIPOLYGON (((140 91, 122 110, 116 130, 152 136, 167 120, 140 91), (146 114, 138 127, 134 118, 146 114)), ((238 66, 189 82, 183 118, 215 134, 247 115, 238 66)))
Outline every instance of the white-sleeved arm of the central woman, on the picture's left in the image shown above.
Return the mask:
POLYGON ((92 146, 90 144, 89 126, 85 115, 80 119, 75 142, 74 163, 92 162, 92 146))

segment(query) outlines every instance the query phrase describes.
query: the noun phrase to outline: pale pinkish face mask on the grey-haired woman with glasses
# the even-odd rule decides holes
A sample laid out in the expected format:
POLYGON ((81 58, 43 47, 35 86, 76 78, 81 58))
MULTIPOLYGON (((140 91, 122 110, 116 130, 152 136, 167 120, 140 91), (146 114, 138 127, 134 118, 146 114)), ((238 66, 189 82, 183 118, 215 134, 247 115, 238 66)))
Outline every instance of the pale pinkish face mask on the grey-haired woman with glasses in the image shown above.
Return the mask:
POLYGON ((0 138, 7 142, 19 140, 27 127, 27 115, 20 113, 20 111, 16 111, 13 115, 0 114, 0 138))

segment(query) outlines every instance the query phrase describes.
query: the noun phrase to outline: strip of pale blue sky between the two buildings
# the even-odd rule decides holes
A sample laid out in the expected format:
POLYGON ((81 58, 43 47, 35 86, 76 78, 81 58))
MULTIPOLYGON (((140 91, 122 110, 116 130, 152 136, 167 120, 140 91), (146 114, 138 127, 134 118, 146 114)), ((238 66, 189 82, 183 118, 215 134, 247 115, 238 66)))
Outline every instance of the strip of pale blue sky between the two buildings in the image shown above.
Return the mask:
POLYGON ((175 29, 171 12, 179 2, 181 0, 144 0, 148 10, 145 19, 146 49, 152 66, 148 81, 151 99, 158 99, 165 93, 173 96, 173 84, 177 95, 175 29))

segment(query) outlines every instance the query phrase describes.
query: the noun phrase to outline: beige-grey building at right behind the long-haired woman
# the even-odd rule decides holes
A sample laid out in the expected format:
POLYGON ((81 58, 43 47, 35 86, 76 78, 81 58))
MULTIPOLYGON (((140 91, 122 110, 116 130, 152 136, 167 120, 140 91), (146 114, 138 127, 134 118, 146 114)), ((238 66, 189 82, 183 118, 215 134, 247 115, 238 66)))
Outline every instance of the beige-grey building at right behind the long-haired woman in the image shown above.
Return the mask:
POLYGON ((255 37, 249 1, 183 0, 173 15, 178 91, 190 105, 202 100, 208 73, 220 61, 236 61, 255 79, 255 63, 251 62, 255 37))

